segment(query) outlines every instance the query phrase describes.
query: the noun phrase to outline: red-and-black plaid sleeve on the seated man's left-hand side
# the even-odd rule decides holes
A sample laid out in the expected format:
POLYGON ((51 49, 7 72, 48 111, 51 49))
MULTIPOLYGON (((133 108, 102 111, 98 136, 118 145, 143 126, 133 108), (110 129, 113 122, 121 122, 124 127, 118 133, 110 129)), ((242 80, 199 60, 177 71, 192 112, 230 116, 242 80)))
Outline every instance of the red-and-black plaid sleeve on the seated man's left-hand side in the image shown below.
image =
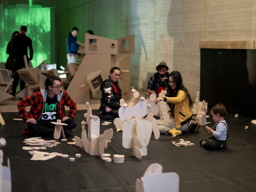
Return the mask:
POLYGON ((26 107, 34 105, 37 102, 37 100, 38 100, 38 95, 37 95, 37 92, 35 92, 32 95, 28 96, 27 98, 23 98, 18 102, 17 104, 18 111, 20 113, 20 117, 24 122, 26 122, 29 119, 28 114, 26 112, 26 107))

